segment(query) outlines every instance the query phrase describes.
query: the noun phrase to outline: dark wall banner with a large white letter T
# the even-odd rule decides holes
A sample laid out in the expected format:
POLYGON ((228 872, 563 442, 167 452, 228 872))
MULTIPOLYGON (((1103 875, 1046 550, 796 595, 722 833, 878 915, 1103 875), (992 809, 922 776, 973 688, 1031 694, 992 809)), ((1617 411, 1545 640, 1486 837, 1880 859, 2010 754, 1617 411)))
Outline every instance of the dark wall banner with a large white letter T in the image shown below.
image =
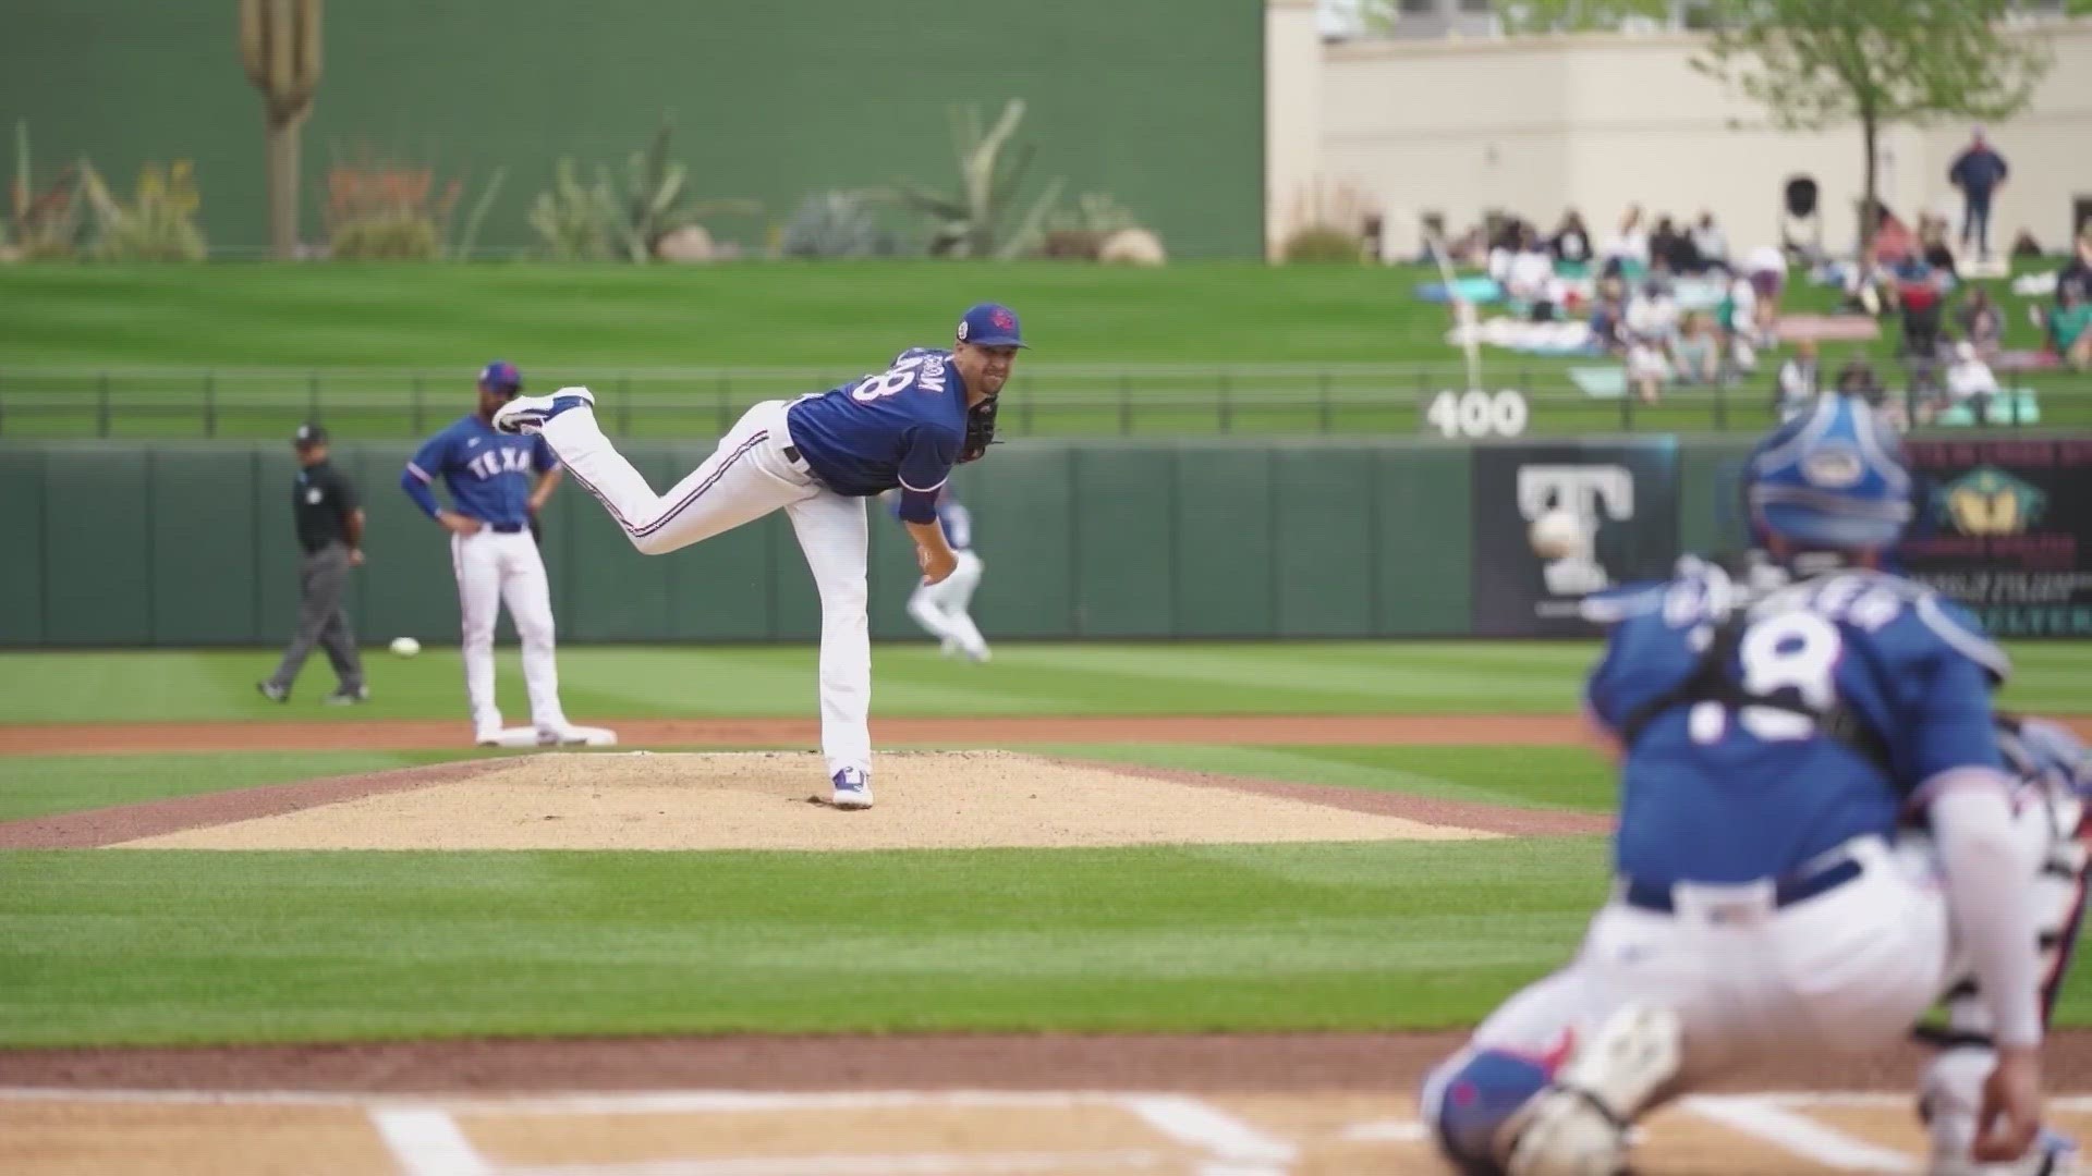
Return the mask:
POLYGON ((1678 561, 1678 446, 1479 446, 1473 469, 1475 632, 1592 636, 1577 605, 1600 588, 1661 580, 1678 561), (1586 542, 1540 559, 1533 519, 1567 511, 1586 542))

